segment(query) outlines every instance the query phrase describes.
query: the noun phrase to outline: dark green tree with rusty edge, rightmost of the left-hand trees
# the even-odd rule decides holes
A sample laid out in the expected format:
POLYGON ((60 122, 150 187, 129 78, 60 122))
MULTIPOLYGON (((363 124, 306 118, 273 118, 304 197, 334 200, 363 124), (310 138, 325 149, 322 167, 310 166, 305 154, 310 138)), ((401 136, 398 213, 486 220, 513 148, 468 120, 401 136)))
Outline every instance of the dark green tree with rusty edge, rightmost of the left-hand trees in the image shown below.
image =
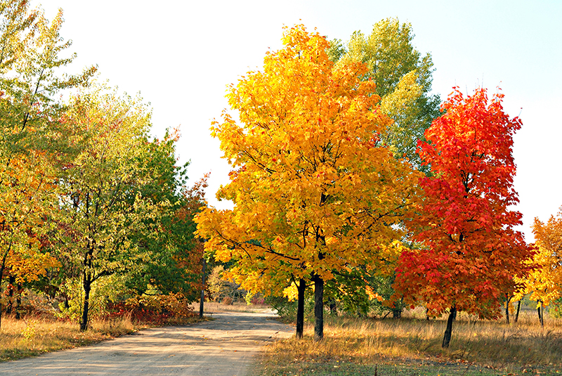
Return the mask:
POLYGON ((147 174, 139 191, 152 202, 167 202, 155 217, 144 220, 133 242, 138 247, 136 268, 126 276, 126 286, 136 294, 169 294, 181 292, 195 300, 200 290, 203 250, 193 234, 193 217, 204 206, 204 180, 192 188, 186 168, 176 166, 177 131, 166 133, 162 140, 145 142, 145 151, 137 163, 147 174))

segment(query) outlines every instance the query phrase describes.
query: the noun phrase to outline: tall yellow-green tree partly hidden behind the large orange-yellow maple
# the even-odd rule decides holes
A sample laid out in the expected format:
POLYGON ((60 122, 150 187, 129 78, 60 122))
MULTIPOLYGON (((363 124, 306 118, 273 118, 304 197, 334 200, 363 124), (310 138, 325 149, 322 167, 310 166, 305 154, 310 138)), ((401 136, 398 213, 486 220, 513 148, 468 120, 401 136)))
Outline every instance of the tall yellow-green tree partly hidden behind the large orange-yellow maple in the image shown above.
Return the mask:
POLYGON ((431 94, 433 61, 414 48, 410 22, 386 18, 373 25, 371 34, 354 32, 344 45, 332 41, 332 59, 341 63, 360 61, 367 65, 362 79, 372 79, 375 92, 381 96, 379 108, 393 119, 381 132, 381 139, 398 157, 428 173, 416 153, 417 141, 440 115, 440 98, 431 94))

